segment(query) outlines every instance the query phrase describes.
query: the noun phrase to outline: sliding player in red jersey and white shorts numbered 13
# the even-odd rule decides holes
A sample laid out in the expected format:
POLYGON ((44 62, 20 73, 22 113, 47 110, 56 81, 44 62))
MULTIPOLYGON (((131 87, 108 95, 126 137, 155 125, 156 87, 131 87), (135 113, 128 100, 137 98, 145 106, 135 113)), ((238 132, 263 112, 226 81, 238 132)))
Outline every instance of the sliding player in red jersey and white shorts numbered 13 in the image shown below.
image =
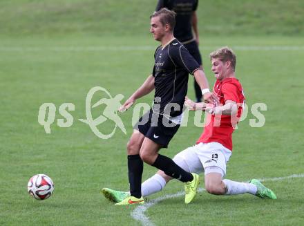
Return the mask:
MULTIPOLYGON (((250 182, 236 182, 223 179, 226 164, 232 153, 232 133, 240 119, 245 102, 243 87, 236 79, 236 55, 227 47, 210 54, 212 71, 216 77, 213 93, 220 104, 195 103, 186 98, 185 104, 191 110, 208 113, 207 125, 196 145, 178 153, 173 161, 185 171, 205 172, 205 189, 210 194, 234 195, 249 193, 260 198, 276 199, 274 192, 253 179, 250 182)), ((172 178, 163 171, 142 183, 142 196, 149 196, 164 188, 172 178)), ((106 198, 116 202, 127 192, 105 189, 106 198)))

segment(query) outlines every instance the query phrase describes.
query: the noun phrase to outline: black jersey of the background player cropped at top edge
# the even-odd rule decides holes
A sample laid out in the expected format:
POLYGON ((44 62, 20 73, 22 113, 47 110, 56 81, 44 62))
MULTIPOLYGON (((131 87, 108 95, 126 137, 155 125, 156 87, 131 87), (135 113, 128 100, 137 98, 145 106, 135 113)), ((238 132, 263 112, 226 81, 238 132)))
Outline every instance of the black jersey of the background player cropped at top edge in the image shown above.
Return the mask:
POLYGON ((192 34, 192 15, 198 8, 198 0, 159 0, 156 11, 161 8, 168 8, 176 12, 176 25, 174 28, 174 37, 178 41, 189 41, 193 39, 192 34))

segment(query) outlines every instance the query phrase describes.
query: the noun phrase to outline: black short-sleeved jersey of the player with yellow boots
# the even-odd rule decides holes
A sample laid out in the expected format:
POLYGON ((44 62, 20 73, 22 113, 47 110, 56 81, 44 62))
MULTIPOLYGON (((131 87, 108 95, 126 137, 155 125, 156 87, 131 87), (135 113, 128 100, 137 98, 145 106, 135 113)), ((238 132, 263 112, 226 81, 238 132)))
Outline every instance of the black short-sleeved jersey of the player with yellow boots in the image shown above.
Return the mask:
POLYGON ((172 117, 178 116, 182 113, 184 97, 187 95, 189 73, 193 75, 194 71, 200 69, 200 65, 177 39, 173 39, 164 48, 158 46, 154 58, 153 111, 166 115, 169 113, 172 117), (172 103, 176 103, 179 109, 165 109, 167 104, 172 103))

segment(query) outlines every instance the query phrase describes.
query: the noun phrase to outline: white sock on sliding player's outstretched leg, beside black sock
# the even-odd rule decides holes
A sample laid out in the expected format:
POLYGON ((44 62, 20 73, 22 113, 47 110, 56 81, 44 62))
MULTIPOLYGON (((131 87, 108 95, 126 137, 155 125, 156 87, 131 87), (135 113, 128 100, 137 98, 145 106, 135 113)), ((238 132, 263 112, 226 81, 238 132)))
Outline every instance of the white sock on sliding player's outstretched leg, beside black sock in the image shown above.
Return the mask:
POLYGON ((142 183, 142 196, 149 196, 158 191, 162 191, 164 185, 166 185, 166 180, 164 180, 162 176, 155 174, 142 183))

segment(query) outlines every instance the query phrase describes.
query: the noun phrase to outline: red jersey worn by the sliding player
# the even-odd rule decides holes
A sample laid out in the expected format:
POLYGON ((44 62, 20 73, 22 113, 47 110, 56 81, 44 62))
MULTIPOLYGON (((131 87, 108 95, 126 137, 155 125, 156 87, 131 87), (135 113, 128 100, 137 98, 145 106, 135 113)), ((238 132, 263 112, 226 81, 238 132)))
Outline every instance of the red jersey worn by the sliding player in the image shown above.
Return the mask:
POLYGON ((221 105, 227 100, 232 100, 238 104, 236 115, 207 115, 205 129, 196 142, 197 144, 218 142, 232 151, 232 133, 240 119, 245 103, 243 87, 236 78, 226 78, 222 81, 216 80, 213 92, 218 96, 221 105))

